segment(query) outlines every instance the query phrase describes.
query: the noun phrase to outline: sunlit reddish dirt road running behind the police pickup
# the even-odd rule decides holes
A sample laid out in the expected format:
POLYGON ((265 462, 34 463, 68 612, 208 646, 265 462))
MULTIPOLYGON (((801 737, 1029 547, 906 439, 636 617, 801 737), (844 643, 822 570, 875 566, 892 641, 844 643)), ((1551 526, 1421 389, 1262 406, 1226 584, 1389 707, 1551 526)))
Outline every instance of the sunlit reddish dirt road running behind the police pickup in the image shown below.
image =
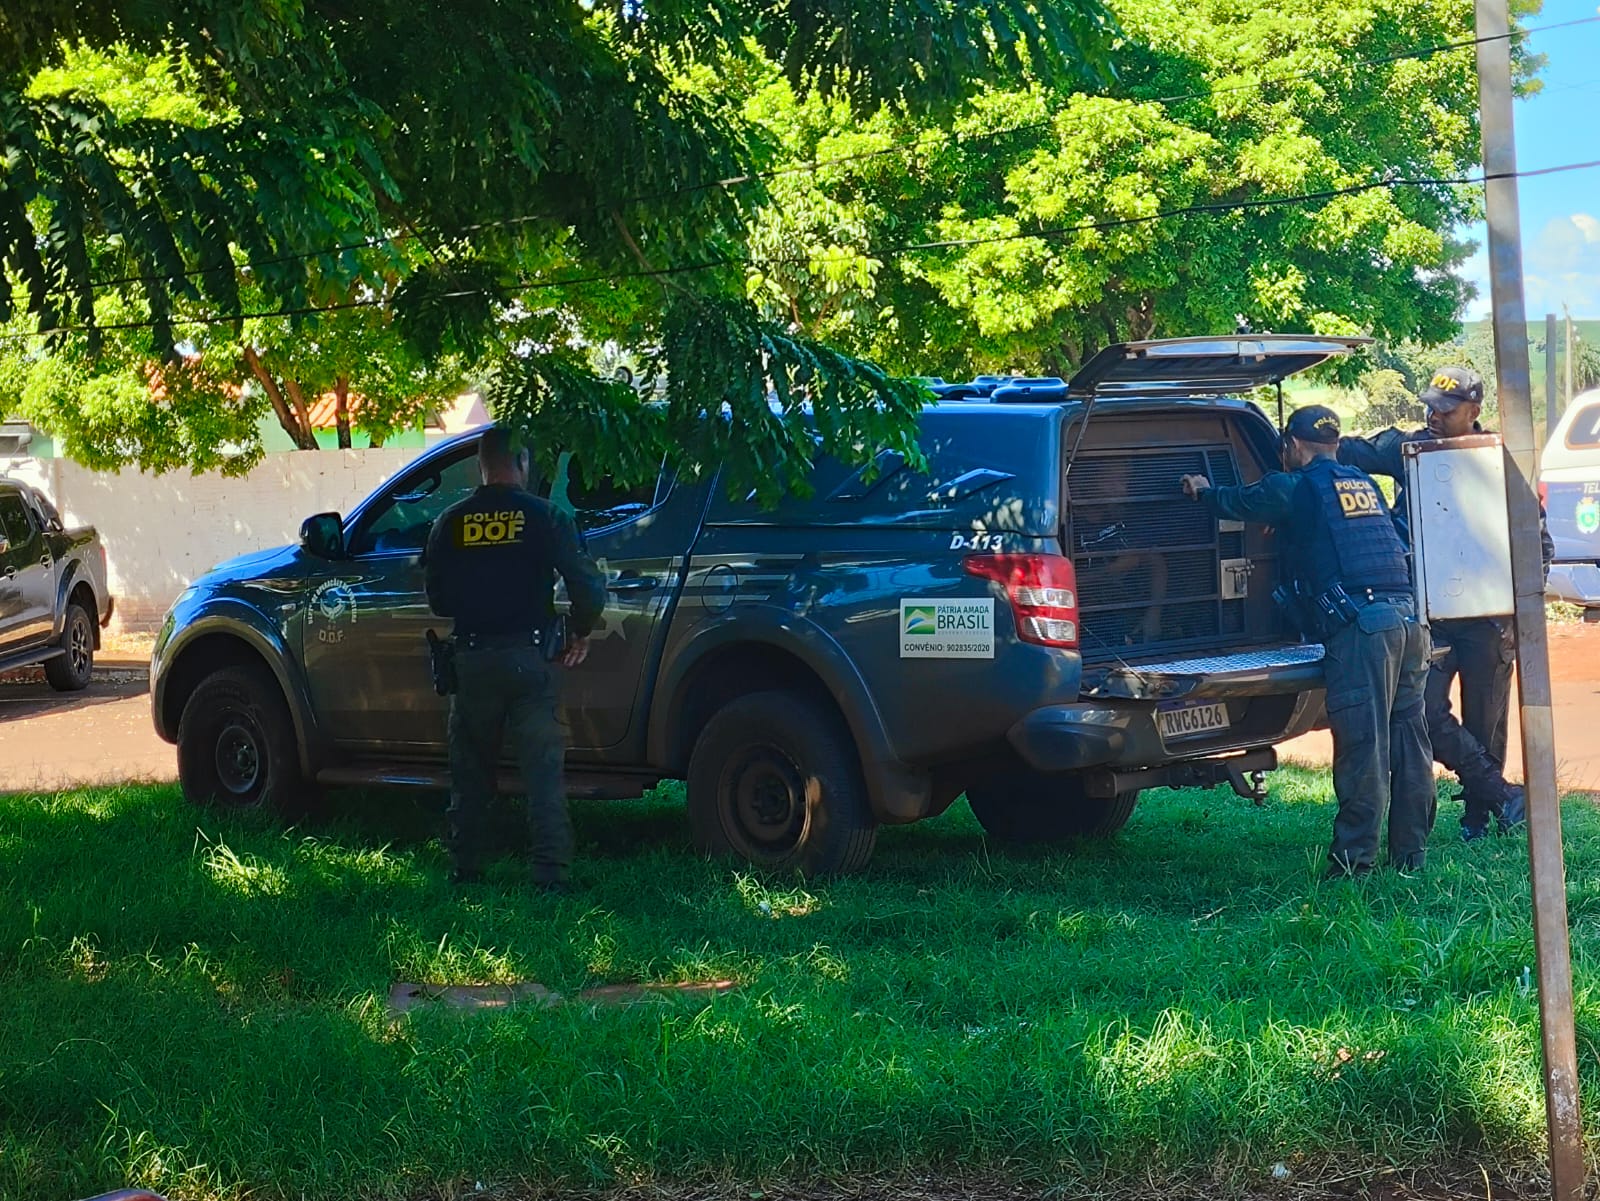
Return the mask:
MULTIPOLYGON (((1600 625, 1550 627, 1557 769, 1563 788, 1600 792, 1600 625)), ((1515 691, 1512 704, 1515 705, 1515 691)), ((1459 708, 1456 710, 1459 713, 1459 708)), ((1286 742, 1283 760, 1325 764, 1326 731, 1286 742)), ((1512 779, 1522 777, 1522 732, 1510 723, 1512 779)), ((1443 771, 1443 769, 1440 769, 1443 771)), ((96 667, 85 692, 51 692, 0 680, 0 792, 54 790, 120 780, 178 777, 173 747, 150 726, 149 684, 133 660, 96 667)))

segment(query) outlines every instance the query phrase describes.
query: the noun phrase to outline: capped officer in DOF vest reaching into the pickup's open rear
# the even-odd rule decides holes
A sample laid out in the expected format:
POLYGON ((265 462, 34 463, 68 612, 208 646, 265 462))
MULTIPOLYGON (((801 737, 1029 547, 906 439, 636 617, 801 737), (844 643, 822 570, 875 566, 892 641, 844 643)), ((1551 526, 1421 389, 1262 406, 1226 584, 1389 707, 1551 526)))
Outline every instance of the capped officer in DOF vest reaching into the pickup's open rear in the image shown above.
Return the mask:
POLYGON ((1280 531, 1291 584, 1283 598, 1323 643, 1333 790, 1339 812, 1328 876, 1365 875, 1378 859, 1384 811, 1389 862, 1419 870, 1434 827, 1434 760, 1422 718, 1427 633, 1416 620, 1405 547, 1378 485, 1336 461, 1339 416, 1296 409, 1283 430, 1283 470, 1242 488, 1181 480, 1219 518, 1280 531))

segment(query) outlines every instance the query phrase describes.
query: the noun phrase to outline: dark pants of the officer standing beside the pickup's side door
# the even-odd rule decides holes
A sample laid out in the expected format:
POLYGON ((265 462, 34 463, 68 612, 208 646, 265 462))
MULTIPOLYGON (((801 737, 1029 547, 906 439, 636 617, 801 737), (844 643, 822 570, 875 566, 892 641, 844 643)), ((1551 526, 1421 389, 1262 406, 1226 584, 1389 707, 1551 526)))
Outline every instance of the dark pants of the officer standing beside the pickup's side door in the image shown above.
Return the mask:
POLYGON ((557 668, 526 640, 478 649, 458 643, 450 699, 450 809, 446 844, 458 868, 475 870, 494 798, 502 737, 510 739, 528 795, 533 878, 563 883, 573 862, 563 761, 566 731, 557 715, 557 668))

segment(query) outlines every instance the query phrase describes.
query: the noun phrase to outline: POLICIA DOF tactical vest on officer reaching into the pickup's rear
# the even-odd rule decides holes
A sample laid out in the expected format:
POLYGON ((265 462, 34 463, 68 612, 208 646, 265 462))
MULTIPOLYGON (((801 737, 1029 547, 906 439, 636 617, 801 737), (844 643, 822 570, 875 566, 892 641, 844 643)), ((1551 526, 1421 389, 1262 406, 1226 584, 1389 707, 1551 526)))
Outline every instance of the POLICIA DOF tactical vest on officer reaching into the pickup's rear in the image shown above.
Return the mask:
POLYGON ((1384 494, 1366 472, 1317 459, 1294 489, 1294 560, 1312 593, 1334 584, 1355 595, 1373 589, 1410 593, 1405 547, 1384 494))

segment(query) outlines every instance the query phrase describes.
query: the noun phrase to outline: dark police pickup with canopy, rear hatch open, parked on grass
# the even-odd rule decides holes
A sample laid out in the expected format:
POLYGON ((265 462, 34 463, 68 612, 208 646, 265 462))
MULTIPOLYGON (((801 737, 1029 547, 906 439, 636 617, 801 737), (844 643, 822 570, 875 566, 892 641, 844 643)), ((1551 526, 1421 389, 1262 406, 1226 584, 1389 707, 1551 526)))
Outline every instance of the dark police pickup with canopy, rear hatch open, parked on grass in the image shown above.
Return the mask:
MULTIPOLYGON (((1069 382, 934 382, 925 470, 824 459, 771 510, 670 472, 586 491, 562 456, 538 488, 610 589, 565 681, 573 793, 683 779, 702 849, 805 872, 859 870, 880 824, 963 793, 1024 841, 1110 835, 1149 787, 1259 795, 1274 744, 1322 720, 1322 648, 1282 625, 1270 533, 1178 478, 1269 470, 1277 430, 1240 393, 1363 341, 1130 342, 1069 382)), ((190 798, 448 784, 419 553, 477 472, 474 433, 440 443, 178 598, 152 702, 190 798)))

